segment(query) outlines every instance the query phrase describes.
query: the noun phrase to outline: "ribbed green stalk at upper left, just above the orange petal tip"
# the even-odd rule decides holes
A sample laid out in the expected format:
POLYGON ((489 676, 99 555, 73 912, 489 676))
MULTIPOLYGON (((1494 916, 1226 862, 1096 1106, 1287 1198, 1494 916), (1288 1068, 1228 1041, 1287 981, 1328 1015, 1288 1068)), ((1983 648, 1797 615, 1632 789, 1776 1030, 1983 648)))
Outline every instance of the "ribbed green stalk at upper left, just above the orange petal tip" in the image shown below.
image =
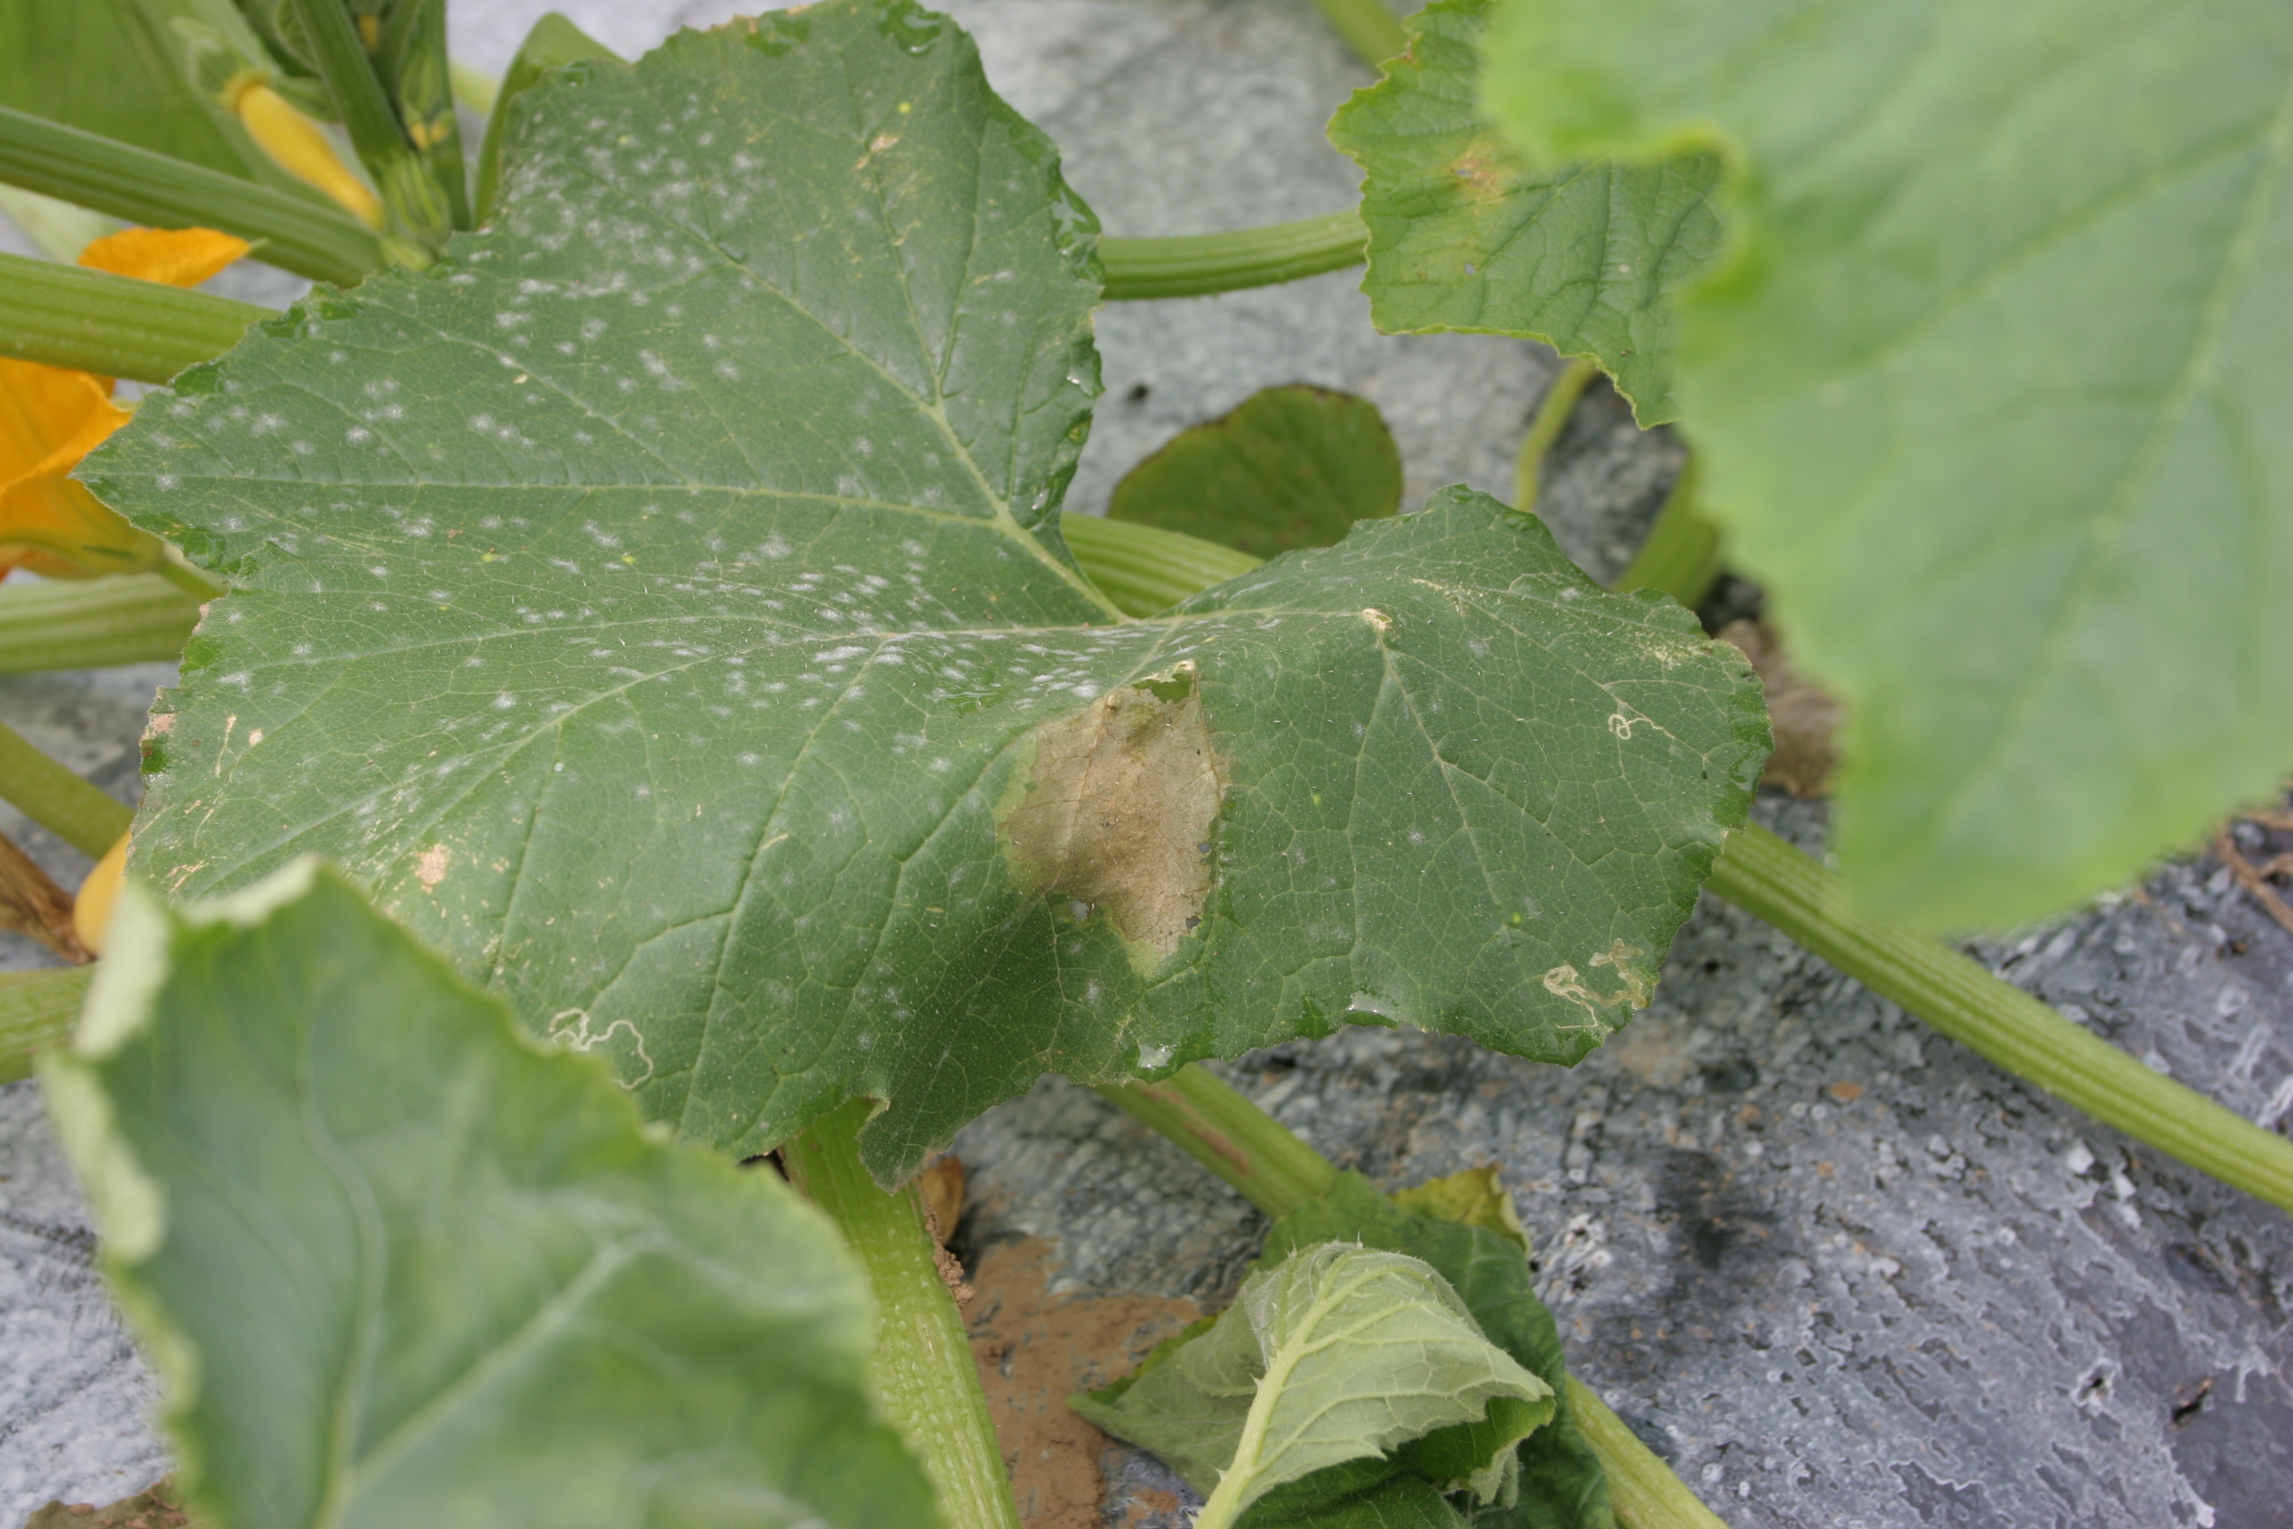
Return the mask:
POLYGON ((383 264, 346 213, 11 108, 0 108, 0 181, 149 227, 222 229, 255 241, 257 259, 337 287, 383 264))

